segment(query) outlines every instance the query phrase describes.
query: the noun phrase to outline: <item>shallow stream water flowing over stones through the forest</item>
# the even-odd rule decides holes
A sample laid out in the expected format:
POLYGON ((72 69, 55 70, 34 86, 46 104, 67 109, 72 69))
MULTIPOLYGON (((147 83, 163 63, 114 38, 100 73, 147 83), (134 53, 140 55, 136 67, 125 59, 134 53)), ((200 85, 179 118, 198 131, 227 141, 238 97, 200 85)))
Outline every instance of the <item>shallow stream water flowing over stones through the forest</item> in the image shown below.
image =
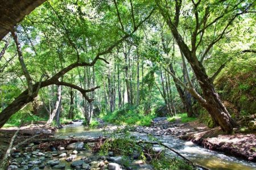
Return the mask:
MULTIPOLYGON (((116 127, 113 127, 115 129, 116 127)), ((103 129, 89 129, 81 124, 69 125, 56 132, 56 138, 96 138, 102 136, 103 129)), ((108 132, 111 130, 108 130, 108 132)), ((131 135, 135 135, 138 138, 148 140, 147 134, 132 132, 131 135)), ((171 135, 164 135, 162 137, 155 137, 162 141, 165 145, 174 148, 177 152, 192 160, 193 162, 207 167, 209 169, 232 169, 232 170, 247 170, 255 169, 256 164, 248 162, 246 160, 234 158, 233 156, 227 156, 222 152, 210 151, 203 147, 196 146, 192 142, 183 141, 172 137, 171 135)), ((161 149, 160 146, 154 146, 154 148, 161 149)), ((172 154, 170 152, 170 154, 172 154)))

